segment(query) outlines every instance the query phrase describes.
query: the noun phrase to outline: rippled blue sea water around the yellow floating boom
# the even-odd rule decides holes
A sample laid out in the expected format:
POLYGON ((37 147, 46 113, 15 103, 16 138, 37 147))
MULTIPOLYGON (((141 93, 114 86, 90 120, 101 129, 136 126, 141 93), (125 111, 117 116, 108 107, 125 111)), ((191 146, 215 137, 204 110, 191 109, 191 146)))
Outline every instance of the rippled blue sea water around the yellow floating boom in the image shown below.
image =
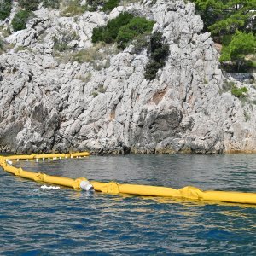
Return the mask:
MULTIPOLYGON (((90 156, 15 166, 98 181, 256 192, 256 154, 90 156)), ((256 255, 256 206, 41 186, 0 170, 0 255, 256 255)))

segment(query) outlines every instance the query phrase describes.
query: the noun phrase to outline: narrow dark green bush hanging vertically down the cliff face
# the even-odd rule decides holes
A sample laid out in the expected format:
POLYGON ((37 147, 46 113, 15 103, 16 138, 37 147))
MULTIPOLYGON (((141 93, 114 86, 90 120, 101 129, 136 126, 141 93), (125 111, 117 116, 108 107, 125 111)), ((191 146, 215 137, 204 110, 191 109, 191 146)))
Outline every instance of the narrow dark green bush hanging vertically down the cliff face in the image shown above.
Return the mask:
POLYGON ((156 73, 166 65, 166 58, 169 55, 169 46, 164 43, 161 32, 154 32, 148 46, 149 62, 145 67, 144 77, 147 80, 155 79, 156 73))

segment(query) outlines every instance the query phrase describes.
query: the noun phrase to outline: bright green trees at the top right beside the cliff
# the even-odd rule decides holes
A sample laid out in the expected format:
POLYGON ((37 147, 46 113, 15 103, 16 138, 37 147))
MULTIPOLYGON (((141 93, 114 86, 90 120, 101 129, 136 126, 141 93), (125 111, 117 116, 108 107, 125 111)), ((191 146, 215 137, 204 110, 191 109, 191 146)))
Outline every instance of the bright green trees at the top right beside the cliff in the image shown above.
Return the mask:
POLYGON ((191 1, 204 21, 204 29, 223 44, 220 61, 231 61, 239 71, 246 56, 255 55, 256 0, 191 1))

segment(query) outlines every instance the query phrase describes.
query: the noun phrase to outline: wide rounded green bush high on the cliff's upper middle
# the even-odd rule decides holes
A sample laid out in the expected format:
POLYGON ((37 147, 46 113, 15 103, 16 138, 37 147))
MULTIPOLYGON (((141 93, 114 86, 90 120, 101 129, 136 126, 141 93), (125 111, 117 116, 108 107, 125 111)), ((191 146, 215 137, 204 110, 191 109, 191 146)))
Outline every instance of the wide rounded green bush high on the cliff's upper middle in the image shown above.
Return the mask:
POLYGON ((122 13, 117 18, 109 20, 107 26, 93 29, 92 42, 105 42, 111 44, 117 42, 119 47, 125 49, 132 39, 139 35, 150 33, 154 21, 143 17, 134 17, 129 13, 122 13))

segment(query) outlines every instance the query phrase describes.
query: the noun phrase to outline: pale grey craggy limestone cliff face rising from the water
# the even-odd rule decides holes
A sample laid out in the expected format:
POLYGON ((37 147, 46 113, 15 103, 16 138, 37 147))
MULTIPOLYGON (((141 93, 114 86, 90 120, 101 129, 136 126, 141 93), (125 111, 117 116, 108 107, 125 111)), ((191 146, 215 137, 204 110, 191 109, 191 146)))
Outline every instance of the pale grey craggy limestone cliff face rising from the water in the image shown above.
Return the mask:
MULTIPOLYGON (((218 53, 210 33, 201 32, 194 4, 144 1, 109 15, 85 12, 76 19, 43 8, 35 13, 25 30, 7 38, 15 48, 0 55, 0 149, 104 154, 255 150, 254 98, 241 102, 224 90, 218 53), (54 58, 54 37, 62 31, 78 35, 71 47, 90 49, 92 29, 123 10, 155 20, 154 31, 163 32, 169 44, 166 66, 156 79, 144 79, 147 51, 137 55, 132 45, 109 54, 101 67, 54 58), (19 46, 26 49, 19 51, 19 46)), ((241 85, 255 95, 253 86, 241 85)))

